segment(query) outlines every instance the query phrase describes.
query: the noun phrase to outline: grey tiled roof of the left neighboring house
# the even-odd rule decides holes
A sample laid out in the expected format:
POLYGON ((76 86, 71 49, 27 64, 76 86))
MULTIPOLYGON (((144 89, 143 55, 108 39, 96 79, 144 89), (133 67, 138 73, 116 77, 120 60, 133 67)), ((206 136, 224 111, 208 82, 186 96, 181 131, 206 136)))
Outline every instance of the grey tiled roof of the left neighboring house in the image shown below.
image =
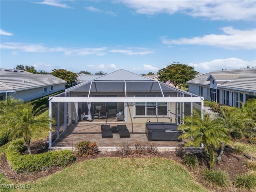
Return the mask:
POLYGON ((33 74, 16 69, 0 69, 0 92, 27 90, 65 83, 65 80, 53 75, 33 74))

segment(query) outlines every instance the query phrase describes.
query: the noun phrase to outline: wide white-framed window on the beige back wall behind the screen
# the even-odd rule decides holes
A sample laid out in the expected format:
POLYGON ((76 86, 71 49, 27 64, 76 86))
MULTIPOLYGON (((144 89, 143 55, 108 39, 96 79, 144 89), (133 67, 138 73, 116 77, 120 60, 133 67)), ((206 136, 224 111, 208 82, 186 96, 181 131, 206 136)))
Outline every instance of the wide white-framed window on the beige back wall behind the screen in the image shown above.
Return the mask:
MULTIPOLYGON (((136 95, 136 97, 147 96, 136 95)), ((148 95, 148 97, 157 97, 157 95, 148 95)), ((136 102, 135 114, 136 116, 167 116, 167 102, 136 102)))

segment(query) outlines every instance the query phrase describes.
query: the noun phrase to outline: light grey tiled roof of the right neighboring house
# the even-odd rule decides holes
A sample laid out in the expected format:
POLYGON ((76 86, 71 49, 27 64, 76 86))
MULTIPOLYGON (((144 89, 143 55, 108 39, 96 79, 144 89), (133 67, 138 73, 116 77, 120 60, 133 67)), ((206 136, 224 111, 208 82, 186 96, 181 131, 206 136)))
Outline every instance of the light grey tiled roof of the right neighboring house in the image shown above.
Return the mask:
POLYGON ((234 90, 245 90, 256 92, 256 68, 212 71, 201 75, 187 83, 198 85, 210 85, 209 77, 212 76, 218 80, 227 80, 218 88, 230 88, 234 90))

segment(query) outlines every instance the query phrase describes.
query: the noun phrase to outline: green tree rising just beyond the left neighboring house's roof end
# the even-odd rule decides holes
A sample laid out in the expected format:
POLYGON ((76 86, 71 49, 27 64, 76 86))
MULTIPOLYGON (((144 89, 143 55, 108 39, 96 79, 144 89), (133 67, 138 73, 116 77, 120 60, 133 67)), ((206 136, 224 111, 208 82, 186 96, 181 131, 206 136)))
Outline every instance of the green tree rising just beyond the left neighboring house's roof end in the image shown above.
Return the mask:
POLYGON ((54 69, 50 73, 53 76, 56 76, 60 79, 63 79, 67 82, 66 87, 71 87, 74 82, 76 82, 76 73, 67 71, 66 69, 54 69))

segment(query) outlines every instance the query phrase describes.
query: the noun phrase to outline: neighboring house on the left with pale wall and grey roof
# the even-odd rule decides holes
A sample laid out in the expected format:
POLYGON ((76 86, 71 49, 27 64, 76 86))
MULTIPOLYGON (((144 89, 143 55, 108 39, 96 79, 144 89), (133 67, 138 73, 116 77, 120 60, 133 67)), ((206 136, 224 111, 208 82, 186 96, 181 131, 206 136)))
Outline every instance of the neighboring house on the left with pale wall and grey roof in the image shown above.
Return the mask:
POLYGON ((53 75, 33 74, 24 70, 0 69, 1 100, 7 96, 24 102, 65 89, 66 81, 53 75))

